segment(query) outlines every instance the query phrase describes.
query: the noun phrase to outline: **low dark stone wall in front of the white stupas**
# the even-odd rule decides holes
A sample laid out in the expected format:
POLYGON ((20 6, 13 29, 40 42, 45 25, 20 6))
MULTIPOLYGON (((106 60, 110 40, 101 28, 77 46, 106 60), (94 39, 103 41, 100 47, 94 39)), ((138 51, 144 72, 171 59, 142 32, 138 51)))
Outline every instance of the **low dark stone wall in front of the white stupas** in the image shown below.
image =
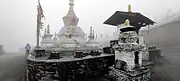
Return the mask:
POLYGON ((29 81, 87 81, 108 73, 114 55, 68 62, 36 62, 28 60, 29 81))

